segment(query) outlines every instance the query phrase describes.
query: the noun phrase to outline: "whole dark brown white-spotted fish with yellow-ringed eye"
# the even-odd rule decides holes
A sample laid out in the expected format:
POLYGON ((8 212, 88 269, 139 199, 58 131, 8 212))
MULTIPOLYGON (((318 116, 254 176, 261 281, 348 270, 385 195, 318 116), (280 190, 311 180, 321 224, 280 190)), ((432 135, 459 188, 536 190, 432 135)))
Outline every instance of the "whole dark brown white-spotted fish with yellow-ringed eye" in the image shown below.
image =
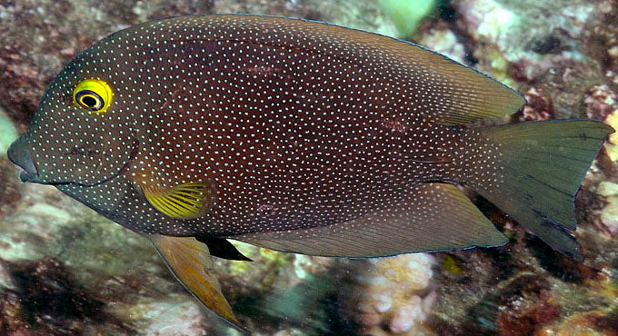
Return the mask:
POLYGON ((210 255, 226 239, 378 257, 507 242, 473 190, 576 260, 573 196, 610 126, 503 124, 513 89, 448 57, 336 25, 255 15, 135 25, 75 56, 10 160, 147 236, 238 324, 210 255))

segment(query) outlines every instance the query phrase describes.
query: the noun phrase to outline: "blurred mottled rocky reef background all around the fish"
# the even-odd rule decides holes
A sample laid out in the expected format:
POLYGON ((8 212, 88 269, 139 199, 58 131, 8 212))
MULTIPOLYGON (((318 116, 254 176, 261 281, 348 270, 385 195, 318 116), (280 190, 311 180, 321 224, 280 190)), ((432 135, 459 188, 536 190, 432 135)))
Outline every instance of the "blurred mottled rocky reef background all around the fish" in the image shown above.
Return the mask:
MULTIPOLYGON (((618 126, 618 1, 0 0, 0 335, 235 335, 185 292, 151 243, 6 158, 55 75, 97 40, 172 15, 302 17, 423 44, 527 104, 498 123, 588 117, 618 126)), ((214 258, 255 335, 618 335, 618 135, 575 203, 576 263, 483 209, 501 248, 348 260, 238 243, 214 258)), ((235 242, 234 242, 235 243, 235 242)))

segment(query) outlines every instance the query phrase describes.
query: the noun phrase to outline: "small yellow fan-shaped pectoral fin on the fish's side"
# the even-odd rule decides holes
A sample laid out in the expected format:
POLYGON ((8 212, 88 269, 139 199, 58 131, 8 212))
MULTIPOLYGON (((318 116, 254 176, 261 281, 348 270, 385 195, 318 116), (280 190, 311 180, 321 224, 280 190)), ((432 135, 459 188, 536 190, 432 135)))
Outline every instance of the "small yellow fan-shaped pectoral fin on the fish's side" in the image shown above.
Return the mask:
POLYGON ((148 203, 166 216, 189 220, 200 217, 212 201, 210 183, 182 183, 172 188, 140 184, 148 203))

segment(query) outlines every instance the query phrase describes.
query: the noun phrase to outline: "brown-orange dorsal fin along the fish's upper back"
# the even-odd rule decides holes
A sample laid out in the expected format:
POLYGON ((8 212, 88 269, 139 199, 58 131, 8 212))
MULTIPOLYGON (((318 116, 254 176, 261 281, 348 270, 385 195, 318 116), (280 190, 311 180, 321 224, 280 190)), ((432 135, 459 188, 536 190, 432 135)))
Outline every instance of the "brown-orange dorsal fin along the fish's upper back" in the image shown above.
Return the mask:
POLYGON ((513 114, 525 104, 521 94, 492 77, 422 45, 393 37, 281 17, 221 15, 211 19, 268 28, 272 34, 259 36, 257 43, 276 44, 271 35, 278 32, 298 36, 305 41, 295 46, 299 49, 345 59, 364 71, 375 72, 381 80, 407 86, 412 89, 407 99, 414 101, 415 108, 424 109, 435 123, 469 124, 513 114))

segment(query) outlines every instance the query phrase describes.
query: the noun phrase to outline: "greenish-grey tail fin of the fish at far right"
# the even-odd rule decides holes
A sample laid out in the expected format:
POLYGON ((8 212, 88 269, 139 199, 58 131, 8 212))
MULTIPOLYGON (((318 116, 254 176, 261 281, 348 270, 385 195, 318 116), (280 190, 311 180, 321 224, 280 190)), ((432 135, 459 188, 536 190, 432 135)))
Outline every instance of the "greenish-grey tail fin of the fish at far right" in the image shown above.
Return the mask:
POLYGON ((503 183, 477 190, 553 249, 582 261, 574 196, 613 128, 592 120, 506 124, 483 134, 503 149, 503 183))

